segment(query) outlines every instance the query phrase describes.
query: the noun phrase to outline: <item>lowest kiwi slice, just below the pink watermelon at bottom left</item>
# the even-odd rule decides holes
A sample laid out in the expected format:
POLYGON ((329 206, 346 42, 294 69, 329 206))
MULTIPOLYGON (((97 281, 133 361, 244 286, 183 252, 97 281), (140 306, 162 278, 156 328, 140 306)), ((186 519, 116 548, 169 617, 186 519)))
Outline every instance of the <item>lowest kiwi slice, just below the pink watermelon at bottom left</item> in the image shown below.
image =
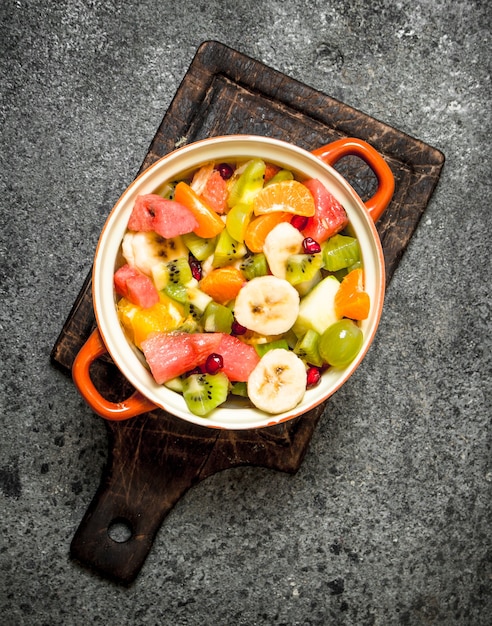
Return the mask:
POLYGON ((225 402, 228 393, 229 379, 224 372, 191 374, 183 381, 183 397, 194 415, 207 415, 225 402))

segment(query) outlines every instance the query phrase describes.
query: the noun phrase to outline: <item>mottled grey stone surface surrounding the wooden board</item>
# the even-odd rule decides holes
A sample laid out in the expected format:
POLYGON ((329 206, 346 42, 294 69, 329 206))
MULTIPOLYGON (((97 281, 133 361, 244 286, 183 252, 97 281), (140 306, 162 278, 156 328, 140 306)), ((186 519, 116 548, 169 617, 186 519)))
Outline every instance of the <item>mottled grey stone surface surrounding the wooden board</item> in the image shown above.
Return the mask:
POLYGON ((0 24, 2 623, 489 624, 487 3, 4 0, 0 24), (49 353, 208 39, 447 160, 373 347, 299 472, 199 484, 122 588, 69 558, 106 434, 49 353))

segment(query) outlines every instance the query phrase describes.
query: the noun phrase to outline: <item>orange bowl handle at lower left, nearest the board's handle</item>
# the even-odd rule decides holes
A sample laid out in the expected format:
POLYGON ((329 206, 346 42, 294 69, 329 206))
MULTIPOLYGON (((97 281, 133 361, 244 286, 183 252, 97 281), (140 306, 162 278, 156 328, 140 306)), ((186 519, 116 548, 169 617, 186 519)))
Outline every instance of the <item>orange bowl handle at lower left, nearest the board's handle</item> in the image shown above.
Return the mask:
POLYGON ((101 417, 112 421, 126 420, 156 409, 156 405, 138 391, 135 391, 122 402, 110 402, 103 398, 92 382, 90 366, 105 353, 107 353, 106 346, 99 329, 96 328, 73 362, 72 377, 74 383, 91 409, 101 417))

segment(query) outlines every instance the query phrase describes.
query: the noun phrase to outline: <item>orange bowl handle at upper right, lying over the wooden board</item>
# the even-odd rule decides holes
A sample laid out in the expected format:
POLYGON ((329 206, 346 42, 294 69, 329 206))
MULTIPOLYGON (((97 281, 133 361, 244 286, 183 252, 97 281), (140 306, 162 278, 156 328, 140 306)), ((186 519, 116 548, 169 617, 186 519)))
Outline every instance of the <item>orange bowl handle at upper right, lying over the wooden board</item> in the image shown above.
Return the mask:
POLYGON ((379 152, 362 139, 348 137, 316 148, 312 153, 331 166, 342 157, 349 155, 358 156, 369 165, 378 179, 378 188, 364 204, 369 215, 376 222, 391 202, 395 190, 393 173, 379 152))

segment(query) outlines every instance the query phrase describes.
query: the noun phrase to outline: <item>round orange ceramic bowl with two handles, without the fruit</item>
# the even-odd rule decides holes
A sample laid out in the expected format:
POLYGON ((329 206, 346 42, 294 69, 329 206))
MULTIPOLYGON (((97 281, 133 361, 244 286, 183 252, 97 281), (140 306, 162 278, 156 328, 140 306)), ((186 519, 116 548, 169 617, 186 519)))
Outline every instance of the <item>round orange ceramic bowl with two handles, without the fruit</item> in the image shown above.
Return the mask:
POLYGON ((308 152, 295 145, 250 135, 214 137, 184 146, 151 165, 126 189, 111 211, 97 246, 93 267, 93 304, 97 329, 82 347, 73 365, 73 378, 89 406, 110 420, 122 420, 156 408, 200 426, 226 429, 252 429, 278 424, 313 409, 329 398, 359 366, 374 338, 384 300, 385 271, 383 252, 374 222, 389 204, 394 179, 384 159, 367 143, 342 139, 308 152), (374 196, 363 203, 333 164, 346 155, 357 155, 371 167, 378 179, 374 196), (291 411, 271 415, 242 401, 227 401, 207 417, 188 410, 184 398, 164 385, 158 385, 143 355, 128 341, 117 316, 113 288, 121 241, 135 199, 153 193, 164 182, 179 179, 209 161, 261 157, 290 169, 302 179, 318 178, 342 203, 350 229, 358 238, 365 269, 365 289, 371 299, 369 317, 361 322, 364 342, 356 359, 346 368, 329 368, 321 383, 306 391, 303 401, 291 411), (90 364, 108 352, 122 374, 135 388, 127 400, 113 403, 102 397, 93 385, 90 364))

